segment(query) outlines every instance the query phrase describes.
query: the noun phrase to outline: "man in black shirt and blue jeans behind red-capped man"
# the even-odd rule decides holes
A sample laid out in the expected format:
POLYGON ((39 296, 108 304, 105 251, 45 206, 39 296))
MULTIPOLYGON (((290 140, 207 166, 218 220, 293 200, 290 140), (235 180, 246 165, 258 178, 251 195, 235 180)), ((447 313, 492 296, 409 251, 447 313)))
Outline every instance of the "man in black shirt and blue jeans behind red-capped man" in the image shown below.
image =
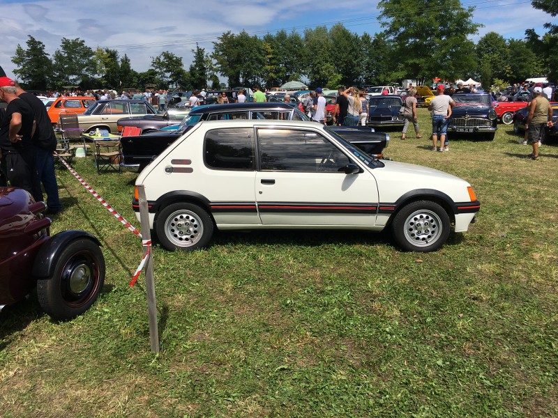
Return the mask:
POLYGON ((35 132, 31 140, 35 150, 38 178, 40 183, 43 183, 45 192, 47 192, 47 212, 50 214, 59 213, 62 210, 62 206, 58 196, 56 176, 54 175, 54 157, 52 157, 52 151, 56 149, 56 135, 52 129, 47 108, 33 93, 27 93, 17 84, 16 88, 17 95, 24 102, 27 102, 33 111, 35 132))

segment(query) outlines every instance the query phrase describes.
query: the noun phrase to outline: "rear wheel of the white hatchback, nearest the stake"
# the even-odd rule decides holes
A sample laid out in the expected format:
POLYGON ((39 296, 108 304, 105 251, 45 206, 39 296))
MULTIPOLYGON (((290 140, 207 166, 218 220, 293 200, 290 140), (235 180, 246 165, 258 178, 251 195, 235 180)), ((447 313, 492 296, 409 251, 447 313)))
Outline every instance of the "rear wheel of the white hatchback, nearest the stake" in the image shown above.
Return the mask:
POLYGON ((165 249, 193 251, 209 245, 213 221, 206 210, 193 203, 173 203, 157 216, 156 231, 165 249))

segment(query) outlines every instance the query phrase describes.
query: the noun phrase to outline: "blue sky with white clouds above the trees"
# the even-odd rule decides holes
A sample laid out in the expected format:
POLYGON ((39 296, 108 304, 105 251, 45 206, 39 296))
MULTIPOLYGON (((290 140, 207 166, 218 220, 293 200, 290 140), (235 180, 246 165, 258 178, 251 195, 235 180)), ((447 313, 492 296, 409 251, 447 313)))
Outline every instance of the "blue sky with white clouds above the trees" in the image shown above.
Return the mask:
MULTIPOLYGON (((552 22, 529 0, 462 0, 462 5, 476 6, 474 22, 485 25, 473 40, 489 31, 504 38, 523 38, 531 28, 542 34, 543 24, 552 22)), ((188 68, 196 42, 209 52, 211 42, 226 31, 302 33, 341 22, 352 32, 377 33, 376 6, 377 1, 363 0, 0 0, 0 65, 13 77, 11 57, 31 35, 48 54, 59 48, 62 37, 80 38, 89 47, 128 54, 137 71, 149 68, 151 57, 163 51, 182 56, 188 68)))

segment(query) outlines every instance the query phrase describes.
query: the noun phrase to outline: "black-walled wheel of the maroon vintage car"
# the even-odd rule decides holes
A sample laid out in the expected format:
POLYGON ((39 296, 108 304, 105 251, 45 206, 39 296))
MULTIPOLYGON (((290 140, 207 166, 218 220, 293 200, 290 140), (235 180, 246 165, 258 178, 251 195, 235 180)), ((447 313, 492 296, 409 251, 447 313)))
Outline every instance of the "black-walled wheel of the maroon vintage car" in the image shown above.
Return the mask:
POLYGON ((79 238, 63 249, 52 276, 38 279, 38 300, 52 318, 72 319, 95 303, 104 283, 103 253, 93 240, 79 238))

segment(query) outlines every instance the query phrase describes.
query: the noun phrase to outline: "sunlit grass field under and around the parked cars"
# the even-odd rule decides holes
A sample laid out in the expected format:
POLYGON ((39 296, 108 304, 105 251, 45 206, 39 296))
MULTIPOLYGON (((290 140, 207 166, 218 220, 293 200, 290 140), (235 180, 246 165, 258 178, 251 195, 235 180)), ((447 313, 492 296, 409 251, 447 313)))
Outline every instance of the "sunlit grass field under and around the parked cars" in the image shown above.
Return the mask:
MULTIPOLYGON (((434 153, 391 132, 386 155, 465 178, 481 201, 439 251, 365 232, 219 233, 154 248, 161 351, 149 350, 140 240, 66 169, 53 233, 103 242, 105 288, 84 316, 31 297, 0 314, 3 417, 558 416, 558 146, 525 158, 511 127, 434 153)), ((411 127, 412 131, 412 127, 411 127)), ((139 228, 135 175, 75 169, 139 228)))

